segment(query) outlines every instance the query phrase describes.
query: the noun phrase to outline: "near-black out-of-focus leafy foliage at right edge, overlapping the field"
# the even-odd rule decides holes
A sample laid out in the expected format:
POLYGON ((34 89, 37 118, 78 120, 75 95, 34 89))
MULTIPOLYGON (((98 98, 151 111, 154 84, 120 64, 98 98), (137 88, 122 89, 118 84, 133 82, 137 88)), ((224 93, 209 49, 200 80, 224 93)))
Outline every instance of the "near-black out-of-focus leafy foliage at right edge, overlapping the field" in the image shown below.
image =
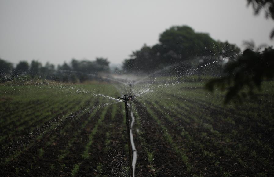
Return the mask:
POLYGON ((236 60, 225 65, 221 78, 211 79, 206 83, 206 89, 214 91, 214 87, 225 91, 224 103, 230 101, 242 103, 247 96, 254 96, 254 89, 261 89, 264 79, 274 77, 274 49, 265 48, 263 52, 246 49, 236 60))

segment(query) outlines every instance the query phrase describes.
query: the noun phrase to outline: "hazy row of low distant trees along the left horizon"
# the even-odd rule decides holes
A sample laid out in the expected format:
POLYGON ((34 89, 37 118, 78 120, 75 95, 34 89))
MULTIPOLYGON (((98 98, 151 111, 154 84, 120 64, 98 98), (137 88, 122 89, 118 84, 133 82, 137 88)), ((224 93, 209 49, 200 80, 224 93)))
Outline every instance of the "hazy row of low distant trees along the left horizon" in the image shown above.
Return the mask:
POLYGON ((64 62, 55 67, 47 62, 42 65, 39 61, 20 61, 13 67, 13 64, 0 59, 0 82, 12 81, 20 78, 25 79, 48 79, 62 82, 83 82, 100 72, 109 72, 109 61, 106 58, 96 58, 95 61, 75 60, 70 63, 64 62))

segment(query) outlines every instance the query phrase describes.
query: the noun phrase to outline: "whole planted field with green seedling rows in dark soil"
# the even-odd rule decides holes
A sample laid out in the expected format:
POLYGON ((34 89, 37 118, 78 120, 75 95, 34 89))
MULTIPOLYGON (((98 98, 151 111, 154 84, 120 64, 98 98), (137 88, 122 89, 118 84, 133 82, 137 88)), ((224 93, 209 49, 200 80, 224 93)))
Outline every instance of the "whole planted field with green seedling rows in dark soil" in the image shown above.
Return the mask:
MULTIPOLYGON (((203 82, 133 85, 135 176, 271 176, 273 85, 227 106, 203 82)), ((0 85, 1 176, 129 176, 124 103, 114 99, 129 92, 103 82, 0 85)))

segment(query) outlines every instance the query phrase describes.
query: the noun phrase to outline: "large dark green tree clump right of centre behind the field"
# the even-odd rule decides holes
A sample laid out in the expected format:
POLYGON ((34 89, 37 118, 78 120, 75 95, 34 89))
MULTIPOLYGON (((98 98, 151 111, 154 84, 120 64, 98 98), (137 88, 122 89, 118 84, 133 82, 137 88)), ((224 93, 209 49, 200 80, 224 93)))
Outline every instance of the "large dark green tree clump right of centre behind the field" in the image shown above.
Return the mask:
MULTIPOLYGON (((184 67, 177 67, 180 70, 186 69, 187 60, 199 57, 215 56, 221 54, 231 55, 239 53, 240 49, 236 45, 226 42, 215 41, 207 33, 195 32, 188 26, 173 26, 160 34, 159 44, 149 47, 144 46, 130 55, 130 59, 125 59, 123 69, 126 72, 143 71, 153 72, 156 69, 177 63, 184 67), (182 64, 182 62, 185 62, 182 64)), ((207 57, 209 59, 209 57, 207 57)), ((187 64, 189 66, 189 64, 187 64)), ((180 71, 181 72, 181 71, 180 71)))

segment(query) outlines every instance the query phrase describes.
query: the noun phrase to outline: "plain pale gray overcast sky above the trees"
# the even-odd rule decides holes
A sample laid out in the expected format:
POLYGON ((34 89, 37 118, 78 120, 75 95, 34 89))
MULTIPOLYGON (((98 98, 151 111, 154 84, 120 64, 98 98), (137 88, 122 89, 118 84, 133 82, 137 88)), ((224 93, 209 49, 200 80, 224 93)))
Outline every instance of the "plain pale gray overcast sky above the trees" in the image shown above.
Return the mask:
POLYGON ((106 57, 122 63, 173 25, 188 25, 216 40, 274 45, 274 21, 254 16, 246 0, 53 1, 0 0, 0 58, 54 64, 106 57))

